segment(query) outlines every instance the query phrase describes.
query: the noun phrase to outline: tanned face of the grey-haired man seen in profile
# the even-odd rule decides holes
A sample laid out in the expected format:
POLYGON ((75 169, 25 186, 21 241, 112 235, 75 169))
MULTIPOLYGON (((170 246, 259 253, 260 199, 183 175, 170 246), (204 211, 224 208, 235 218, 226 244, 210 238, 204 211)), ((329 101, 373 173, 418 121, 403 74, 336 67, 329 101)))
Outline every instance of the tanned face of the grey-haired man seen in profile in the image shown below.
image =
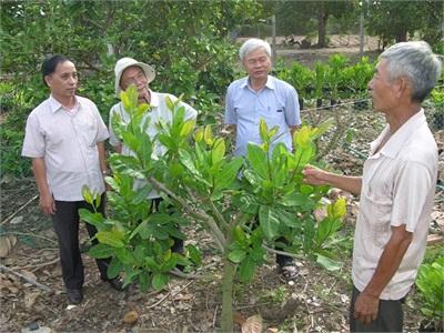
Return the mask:
POLYGON ((375 69, 373 79, 369 82, 369 90, 372 95, 373 109, 386 113, 396 104, 395 81, 390 81, 386 69, 386 60, 381 60, 375 69))

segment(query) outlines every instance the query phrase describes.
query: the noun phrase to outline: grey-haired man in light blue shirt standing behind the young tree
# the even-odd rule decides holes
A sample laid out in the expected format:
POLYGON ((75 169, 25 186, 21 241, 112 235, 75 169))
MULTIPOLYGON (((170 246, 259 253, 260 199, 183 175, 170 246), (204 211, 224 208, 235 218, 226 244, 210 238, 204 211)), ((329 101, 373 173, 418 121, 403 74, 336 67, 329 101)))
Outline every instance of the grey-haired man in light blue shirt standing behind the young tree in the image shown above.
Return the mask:
MULTIPOLYGON (((271 47, 264 40, 252 38, 239 50, 248 77, 230 84, 225 100, 225 124, 234 131, 235 155, 245 155, 248 143, 261 144, 259 123, 264 119, 269 128, 279 127, 270 153, 279 142, 292 150, 292 134, 301 124, 296 90, 289 83, 270 75, 271 47)), ((284 239, 280 239, 286 243, 284 239)), ((281 280, 297 275, 292 258, 276 255, 281 280)))

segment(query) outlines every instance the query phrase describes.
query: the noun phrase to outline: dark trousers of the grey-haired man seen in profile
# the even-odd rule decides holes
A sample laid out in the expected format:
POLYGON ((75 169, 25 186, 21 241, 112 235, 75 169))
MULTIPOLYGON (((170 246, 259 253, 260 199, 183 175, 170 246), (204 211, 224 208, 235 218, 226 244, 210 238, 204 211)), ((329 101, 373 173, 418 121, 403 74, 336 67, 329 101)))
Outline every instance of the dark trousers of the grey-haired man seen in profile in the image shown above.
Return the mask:
POLYGON ((402 332, 404 313, 402 304, 405 297, 396 301, 380 300, 377 317, 370 324, 354 317, 354 304, 360 291, 353 286, 352 303, 350 305, 350 332, 402 332))

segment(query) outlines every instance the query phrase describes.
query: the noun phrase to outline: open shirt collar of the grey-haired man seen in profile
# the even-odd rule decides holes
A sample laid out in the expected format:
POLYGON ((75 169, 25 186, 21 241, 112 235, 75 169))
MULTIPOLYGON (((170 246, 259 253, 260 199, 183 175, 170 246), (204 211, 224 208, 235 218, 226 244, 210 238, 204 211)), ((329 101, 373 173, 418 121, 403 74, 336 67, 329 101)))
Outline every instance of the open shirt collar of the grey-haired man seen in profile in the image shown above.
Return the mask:
MULTIPOLYGON (((417 113, 413 114, 381 149, 380 153, 389 158, 395 158, 400 150, 404 147, 404 142, 414 135, 414 131, 422 127, 426 122, 424 109, 421 109, 417 113)), ((371 152, 373 153, 381 141, 390 133, 390 125, 386 125, 382 131, 381 135, 373 141, 371 147, 371 152)))

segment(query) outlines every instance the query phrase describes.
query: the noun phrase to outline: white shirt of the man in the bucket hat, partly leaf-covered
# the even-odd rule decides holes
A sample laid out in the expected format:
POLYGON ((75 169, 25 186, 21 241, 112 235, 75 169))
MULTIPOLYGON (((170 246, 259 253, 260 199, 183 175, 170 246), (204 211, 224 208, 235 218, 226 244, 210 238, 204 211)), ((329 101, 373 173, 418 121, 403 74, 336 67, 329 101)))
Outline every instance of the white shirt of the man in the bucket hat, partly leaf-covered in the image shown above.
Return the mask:
MULTIPOLYGON (((167 98, 170 98, 173 102, 178 100, 176 97, 169 94, 169 93, 159 93, 154 91, 150 91, 151 94, 151 102, 150 107, 151 109, 144 114, 144 119, 149 118, 149 125, 147 128, 147 133, 150 135, 152 140, 154 140, 154 149, 152 151, 151 157, 153 159, 158 159, 162 157, 167 152, 167 148, 163 147, 159 140, 155 140, 155 137, 158 135, 158 123, 160 121, 163 121, 165 123, 171 123, 172 121, 172 112, 167 105, 167 98)), ((192 107, 189 104, 180 101, 179 105, 184 107, 185 109, 185 120, 190 119, 196 119, 198 117, 198 111, 194 110, 192 107)), ((111 108, 110 111, 110 124, 109 124, 109 130, 110 130, 110 143, 111 145, 115 147, 121 144, 120 139, 117 137, 114 130, 112 129, 112 118, 114 114, 119 114, 120 119, 123 121, 123 123, 129 123, 130 122, 130 115, 128 112, 124 110, 122 102, 117 103, 111 108)), ((123 155, 133 155, 133 152, 125 147, 124 144, 122 145, 122 154, 123 155)), ((135 185, 134 188, 140 188, 145 183, 144 180, 135 180, 135 185)), ((153 198, 159 198, 159 193, 155 191, 152 191, 149 195, 150 199, 153 198)))

